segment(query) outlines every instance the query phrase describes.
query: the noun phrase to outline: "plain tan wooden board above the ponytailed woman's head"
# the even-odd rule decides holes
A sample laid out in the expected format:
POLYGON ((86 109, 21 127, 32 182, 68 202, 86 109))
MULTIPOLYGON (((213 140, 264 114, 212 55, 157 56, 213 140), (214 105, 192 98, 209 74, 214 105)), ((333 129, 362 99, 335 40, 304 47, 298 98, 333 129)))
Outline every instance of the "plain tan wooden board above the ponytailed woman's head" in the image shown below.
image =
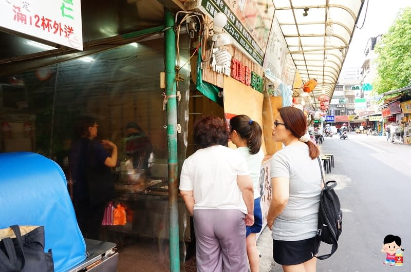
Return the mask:
MULTIPOLYGON (((246 114, 263 128, 263 99, 264 95, 253 88, 242 84, 231 77, 224 76, 224 112, 225 114, 246 114)), ((231 142, 229 146, 235 148, 231 142)), ((264 142, 261 148, 267 153, 264 142)))

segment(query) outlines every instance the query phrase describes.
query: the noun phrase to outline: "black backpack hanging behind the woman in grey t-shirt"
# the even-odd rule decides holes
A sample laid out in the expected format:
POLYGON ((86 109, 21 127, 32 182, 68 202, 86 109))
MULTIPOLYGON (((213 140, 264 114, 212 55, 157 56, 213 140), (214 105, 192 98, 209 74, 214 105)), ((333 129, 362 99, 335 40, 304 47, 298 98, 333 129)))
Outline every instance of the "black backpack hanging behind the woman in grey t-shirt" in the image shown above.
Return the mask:
POLYGON ((342 232, 343 226, 343 211, 341 210, 340 200, 337 196, 337 193, 334 191, 334 187, 337 186, 336 181, 324 181, 323 168, 321 165, 320 158, 317 158, 320 164, 321 177, 324 183, 324 188, 321 189, 320 196, 320 210, 318 217, 318 230, 315 236, 315 245, 316 252, 313 252, 313 255, 318 253, 318 248, 320 243, 324 242, 332 245, 331 253, 315 256, 317 259, 325 260, 331 257, 334 254, 335 250, 338 247, 338 238, 342 232))

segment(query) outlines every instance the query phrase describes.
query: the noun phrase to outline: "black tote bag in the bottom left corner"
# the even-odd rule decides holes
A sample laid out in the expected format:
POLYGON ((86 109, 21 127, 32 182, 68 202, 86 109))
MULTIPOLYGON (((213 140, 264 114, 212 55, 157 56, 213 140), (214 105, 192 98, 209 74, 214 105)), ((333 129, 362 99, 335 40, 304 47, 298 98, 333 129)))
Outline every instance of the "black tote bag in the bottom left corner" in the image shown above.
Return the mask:
POLYGON ((51 249, 44 252, 44 226, 13 225, 0 229, 0 240, 0 271, 54 271, 51 249))

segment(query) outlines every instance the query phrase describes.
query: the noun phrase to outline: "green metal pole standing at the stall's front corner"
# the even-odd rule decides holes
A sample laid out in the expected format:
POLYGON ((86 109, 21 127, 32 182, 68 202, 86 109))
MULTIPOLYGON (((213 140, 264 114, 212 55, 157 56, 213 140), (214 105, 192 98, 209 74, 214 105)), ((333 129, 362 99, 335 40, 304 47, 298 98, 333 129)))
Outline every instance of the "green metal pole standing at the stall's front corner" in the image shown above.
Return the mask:
POLYGON ((176 87, 176 33, 173 13, 164 8, 165 94, 167 103, 167 143, 169 145, 169 237, 170 271, 180 271, 180 245, 177 199, 177 87, 176 87))

